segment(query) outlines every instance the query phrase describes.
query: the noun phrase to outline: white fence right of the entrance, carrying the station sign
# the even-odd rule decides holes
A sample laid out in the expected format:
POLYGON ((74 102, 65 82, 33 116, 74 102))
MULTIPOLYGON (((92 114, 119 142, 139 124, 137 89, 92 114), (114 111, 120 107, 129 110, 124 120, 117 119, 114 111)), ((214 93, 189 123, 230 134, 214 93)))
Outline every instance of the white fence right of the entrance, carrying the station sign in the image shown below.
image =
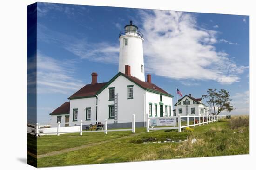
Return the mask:
POLYGON ((191 126, 201 126, 204 124, 209 124, 212 122, 216 122, 219 121, 222 117, 224 117, 225 115, 205 115, 205 116, 195 116, 195 115, 187 115, 187 116, 169 116, 169 117, 148 117, 147 115, 147 121, 146 121, 146 127, 147 127, 147 132, 150 132, 150 130, 166 130, 166 129, 178 129, 178 132, 182 131, 182 128, 186 128, 186 127, 191 127, 191 126), (168 118, 174 118, 177 121, 177 125, 176 126, 166 126, 166 127, 157 127, 157 126, 150 126, 150 121, 152 119, 168 119, 168 118), (187 124, 185 126, 181 125, 181 118, 187 118, 187 124), (193 118, 193 124, 189 125, 189 118, 193 118), (198 123, 195 122, 195 119, 198 118, 198 123), (201 122, 201 118, 202 118, 202 122, 201 122))

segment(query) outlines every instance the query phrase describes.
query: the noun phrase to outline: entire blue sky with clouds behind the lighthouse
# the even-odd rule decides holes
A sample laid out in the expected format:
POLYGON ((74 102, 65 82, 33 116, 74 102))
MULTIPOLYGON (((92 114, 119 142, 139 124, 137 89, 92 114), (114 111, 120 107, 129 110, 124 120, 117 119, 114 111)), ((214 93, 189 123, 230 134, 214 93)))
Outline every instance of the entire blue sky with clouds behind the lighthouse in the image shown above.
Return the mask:
POLYGON ((37 64, 40 123, 85 84, 118 72, 119 32, 130 20, 144 34, 146 74, 174 95, 199 98, 225 88, 249 114, 249 16, 38 3, 37 64))

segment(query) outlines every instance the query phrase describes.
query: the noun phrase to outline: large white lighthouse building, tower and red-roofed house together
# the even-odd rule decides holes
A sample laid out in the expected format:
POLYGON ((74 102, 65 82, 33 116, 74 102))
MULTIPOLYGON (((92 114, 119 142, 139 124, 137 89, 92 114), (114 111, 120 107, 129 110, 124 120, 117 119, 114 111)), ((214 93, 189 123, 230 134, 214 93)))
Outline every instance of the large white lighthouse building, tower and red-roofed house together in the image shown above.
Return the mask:
POLYGON ((91 84, 68 97, 69 101, 51 115, 52 127, 84 125, 112 120, 108 127, 131 127, 135 114, 136 127, 146 126, 146 116, 172 116, 173 96, 151 82, 145 81, 143 34, 138 27, 126 25, 119 34, 119 72, 108 82, 98 83, 92 73, 91 84), (68 122, 69 124, 65 124, 68 122))

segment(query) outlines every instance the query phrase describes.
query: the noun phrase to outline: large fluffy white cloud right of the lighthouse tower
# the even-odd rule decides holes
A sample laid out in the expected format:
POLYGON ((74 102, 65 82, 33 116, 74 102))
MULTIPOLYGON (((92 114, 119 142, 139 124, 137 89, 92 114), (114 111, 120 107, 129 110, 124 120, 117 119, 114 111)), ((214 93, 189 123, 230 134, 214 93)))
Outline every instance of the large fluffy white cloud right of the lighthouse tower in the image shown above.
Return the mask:
POLYGON ((200 28, 189 13, 142 11, 145 65, 149 72, 174 79, 240 80, 238 66, 224 51, 216 51, 217 31, 200 28))

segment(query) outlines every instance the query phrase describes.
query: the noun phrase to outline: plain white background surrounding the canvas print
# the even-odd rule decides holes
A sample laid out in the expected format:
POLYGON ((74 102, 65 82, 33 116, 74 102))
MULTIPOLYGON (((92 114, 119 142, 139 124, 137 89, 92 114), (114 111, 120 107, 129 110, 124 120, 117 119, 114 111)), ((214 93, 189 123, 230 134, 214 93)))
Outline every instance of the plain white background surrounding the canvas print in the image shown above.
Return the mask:
MULTIPOLYGON (((41 0, 98 6, 121 6, 147 9, 166 9, 202 13, 226 13, 250 15, 250 87, 255 87, 256 63, 254 57, 256 40, 255 4, 253 0, 41 0), (254 47, 254 49, 253 49, 254 47)), ((8 120, 2 116, 0 140, 0 169, 34 169, 26 162, 26 6, 35 0, 6 0, 0 6, 0 106, 1 114, 5 108, 14 108, 15 115, 8 120), (10 121, 13 124, 10 124, 10 121), (20 133, 13 135, 12 131, 20 133)), ((255 160, 255 109, 253 106, 255 90, 250 89, 250 155, 203 157, 136 163, 98 164, 47 168, 49 170, 131 170, 131 169, 198 169, 198 170, 241 170, 254 166, 255 160), (254 134, 254 135, 252 135, 254 134), (254 158, 253 158, 254 157, 254 158)), ((249 168, 252 169, 252 168, 249 168)))

